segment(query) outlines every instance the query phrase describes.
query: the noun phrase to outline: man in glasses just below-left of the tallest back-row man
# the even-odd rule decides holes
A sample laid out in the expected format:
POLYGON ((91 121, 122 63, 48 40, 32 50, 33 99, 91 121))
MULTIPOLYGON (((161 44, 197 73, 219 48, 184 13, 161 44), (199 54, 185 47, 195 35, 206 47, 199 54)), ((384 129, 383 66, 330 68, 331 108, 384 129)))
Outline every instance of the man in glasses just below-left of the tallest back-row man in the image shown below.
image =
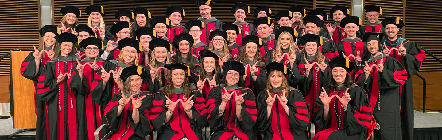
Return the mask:
POLYGON ((204 27, 205 27, 204 22, 198 19, 189 20, 188 22, 186 22, 185 25, 186 30, 189 31, 188 33, 192 35, 194 39, 194 44, 192 45, 191 52, 193 55, 195 55, 198 58, 200 55, 199 53, 200 50, 209 48, 209 46, 201 42, 201 33, 204 27))

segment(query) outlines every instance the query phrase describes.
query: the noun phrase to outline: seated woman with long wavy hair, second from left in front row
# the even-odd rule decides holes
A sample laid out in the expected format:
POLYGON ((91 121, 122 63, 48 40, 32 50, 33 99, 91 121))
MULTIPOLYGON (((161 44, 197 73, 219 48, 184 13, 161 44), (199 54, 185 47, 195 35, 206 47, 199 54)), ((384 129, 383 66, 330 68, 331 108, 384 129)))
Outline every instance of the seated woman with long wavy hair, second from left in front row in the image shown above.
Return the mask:
POLYGON ((157 140, 202 140, 207 123, 204 96, 189 83, 190 68, 183 63, 164 65, 168 83, 155 93, 150 110, 157 140))

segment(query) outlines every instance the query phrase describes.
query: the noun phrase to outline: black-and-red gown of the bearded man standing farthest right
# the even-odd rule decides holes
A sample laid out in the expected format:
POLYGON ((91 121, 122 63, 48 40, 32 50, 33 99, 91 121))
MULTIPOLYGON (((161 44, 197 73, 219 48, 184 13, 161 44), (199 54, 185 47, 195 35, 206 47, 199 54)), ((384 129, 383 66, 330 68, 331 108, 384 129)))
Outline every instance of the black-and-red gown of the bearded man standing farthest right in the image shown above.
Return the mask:
POLYGON ((396 42, 388 40, 383 40, 382 42, 385 42, 388 49, 391 49, 392 47, 399 49, 401 41, 404 41, 407 55, 405 57, 403 55, 398 55, 398 52, 393 49, 390 56, 396 58, 396 60, 404 66, 405 70, 407 70, 407 81, 405 81, 405 84, 401 88, 400 109, 402 113, 402 136, 405 140, 411 140, 413 138, 414 129, 413 85, 411 77, 419 72, 423 60, 425 59, 425 52, 416 42, 408 41, 401 37, 398 37, 396 42))

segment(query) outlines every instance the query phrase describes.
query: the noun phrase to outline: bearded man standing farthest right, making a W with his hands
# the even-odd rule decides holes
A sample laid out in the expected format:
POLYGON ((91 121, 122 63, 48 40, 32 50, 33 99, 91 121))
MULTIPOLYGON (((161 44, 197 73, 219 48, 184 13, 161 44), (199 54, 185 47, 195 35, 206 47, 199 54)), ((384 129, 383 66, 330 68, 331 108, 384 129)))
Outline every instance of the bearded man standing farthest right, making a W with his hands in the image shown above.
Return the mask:
POLYGON ((407 81, 401 88, 402 136, 405 140, 413 137, 413 86, 412 76, 419 72, 425 59, 425 52, 416 42, 398 37, 397 33, 404 27, 404 21, 398 17, 385 18, 382 21, 387 38, 381 42, 385 45, 383 53, 395 58, 407 70, 407 81))

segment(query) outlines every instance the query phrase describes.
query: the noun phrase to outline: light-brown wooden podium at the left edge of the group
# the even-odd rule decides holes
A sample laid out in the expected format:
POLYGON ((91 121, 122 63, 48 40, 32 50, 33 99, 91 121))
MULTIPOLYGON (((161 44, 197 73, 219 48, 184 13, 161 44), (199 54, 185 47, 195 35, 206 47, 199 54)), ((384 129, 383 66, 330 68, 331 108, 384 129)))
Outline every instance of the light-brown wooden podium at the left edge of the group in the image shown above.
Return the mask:
POLYGON ((29 53, 11 52, 11 116, 15 129, 35 129, 36 124, 34 82, 20 74, 20 66, 29 53))

